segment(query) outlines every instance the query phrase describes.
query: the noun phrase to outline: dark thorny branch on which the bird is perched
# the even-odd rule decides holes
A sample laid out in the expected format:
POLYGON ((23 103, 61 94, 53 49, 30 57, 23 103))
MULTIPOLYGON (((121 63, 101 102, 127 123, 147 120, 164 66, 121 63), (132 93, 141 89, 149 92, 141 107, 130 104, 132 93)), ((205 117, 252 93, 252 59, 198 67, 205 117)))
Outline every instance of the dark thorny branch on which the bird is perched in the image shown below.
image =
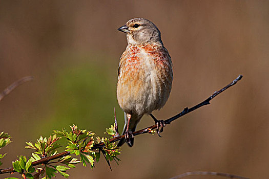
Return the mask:
MULTIPOLYGON (((170 124, 171 122, 173 122, 174 120, 188 114, 188 113, 191 113, 191 111, 195 110, 195 109, 198 109, 204 105, 208 105, 210 104, 210 101, 215 98, 217 95, 219 95, 220 93, 222 93, 223 91, 225 91, 227 88, 235 85, 239 80, 241 80, 243 76, 242 75, 239 75, 235 80, 233 80, 231 83, 227 84, 225 87, 221 88, 219 91, 216 91, 213 95, 211 95, 209 98, 205 99, 203 102, 191 107, 190 109, 188 107, 184 108, 184 110, 181 111, 181 113, 173 116, 172 118, 169 118, 167 120, 164 121, 164 124, 170 124)), ((141 135, 142 133, 151 133, 153 129, 156 129, 157 128, 157 125, 152 125, 150 127, 147 127, 147 128, 144 128, 144 129, 141 129, 141 130, 137 130, 135 132, 133 132, 133 135, 134 136, 137 136, 137 135, 141 135)), ((113 142, 116 142, 116 141, 119 141, 120 139, 122 138, 125 138, 124 135, 122 136, 115 136, 114 138, 110 139, 110 143, 113 143, 113 142)), ((93 145, 92 149, 101 149, 102 147, 104 147, 105 144, 104 143, 98 143, 98 144, 95 144, 93 145)), ((40 164, 45 164, 45 163, 48 163, 49 161, 51 160, 55 160, 55 159, 58 159, 58 158, 61 158, 65 155, 69 155, 70 153, 65 151, 65 152, 62 152, 62 153, 58 153, 56 155, 53 155, 53 156, 49 156, 47 158, 43 158, 43 159, 40 159, 38 161, 35 161, 33 162, 33 166, 36 166, 36 165, 40 165, 40 164)), ((0 170, 0 174, 2 173, 10 173, 10 172, 15 172, 14 168, 11 167, 11 168, 6 168, 6 169, 1 169, 0 170)))

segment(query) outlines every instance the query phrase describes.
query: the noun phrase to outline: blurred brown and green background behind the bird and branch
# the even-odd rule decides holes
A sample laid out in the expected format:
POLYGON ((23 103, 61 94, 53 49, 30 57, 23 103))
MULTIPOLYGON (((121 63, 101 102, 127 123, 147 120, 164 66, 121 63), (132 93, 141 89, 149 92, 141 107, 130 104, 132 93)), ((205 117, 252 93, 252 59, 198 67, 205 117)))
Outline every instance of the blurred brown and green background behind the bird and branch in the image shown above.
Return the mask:
MULTIPOLYGON (((1 150, 8 152, 1 168, 30 154, 25 142, 73 123, 103 136, 114 107, 122 129, 116 83, 127 41, 117 28, 134 17, 159 28, 174 65, 170 99, 153 112, 158 119, 201 102, 239 74, 243 79, 165 127, 162 138, 141 135, 132 148, 123 146, 113 172, 102 158, 94 170, 71 169, 70 178, 170 178, 188 171, 268 178, 268 1, 0 1, 0 91, 34 77, 0 102, 0 131, 13 141, 1 150)), ((138 129, 152 124, 144 116, 138 129)))

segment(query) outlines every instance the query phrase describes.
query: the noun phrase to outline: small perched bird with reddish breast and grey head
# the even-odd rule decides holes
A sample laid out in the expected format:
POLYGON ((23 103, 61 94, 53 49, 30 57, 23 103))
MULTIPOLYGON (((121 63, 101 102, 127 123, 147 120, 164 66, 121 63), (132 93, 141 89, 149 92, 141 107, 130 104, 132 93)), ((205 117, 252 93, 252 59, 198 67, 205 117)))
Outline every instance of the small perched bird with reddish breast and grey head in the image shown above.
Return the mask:
MULTIPOLYGON (((132 132, 144 114, 159 110, 167 102, 173 81, 171 57, 163 46, 159 29, 144 18, 134 18, 118 28, 127 34, 127 48, 122 53, 118 68, 117 100, 125 113, 125 127, 118 146, 134 143, 132 132)), ((162 131, 162 128, 161 128, 162 131)))

